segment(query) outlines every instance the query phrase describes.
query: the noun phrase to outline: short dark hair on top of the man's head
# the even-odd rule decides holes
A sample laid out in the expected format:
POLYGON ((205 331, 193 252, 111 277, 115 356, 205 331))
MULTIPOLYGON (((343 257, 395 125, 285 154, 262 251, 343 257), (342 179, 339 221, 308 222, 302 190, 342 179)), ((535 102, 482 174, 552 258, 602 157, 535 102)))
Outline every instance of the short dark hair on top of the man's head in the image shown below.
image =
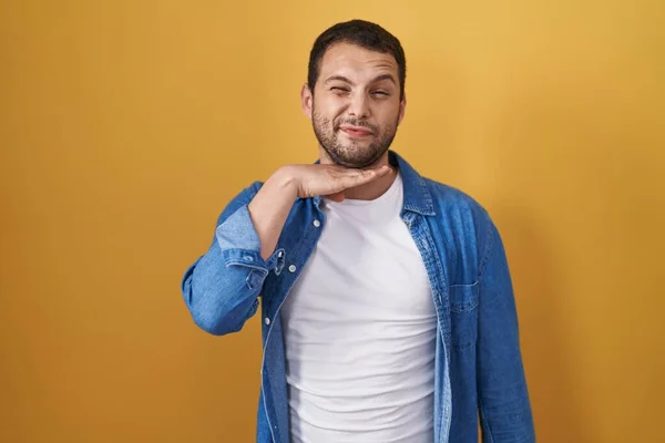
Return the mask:
POLYGON ((365 20, 351 20, 334 24, 325 30, 314 42, 309 53, 307 85, 314 93, 314 85, 319 76, 320 61, 324 54, 335 43, 349 43, 358 47, 391 54, 397 62, 400 99, 405 95, 407 80, 407 59, 399 40, 376 23, 365 20))

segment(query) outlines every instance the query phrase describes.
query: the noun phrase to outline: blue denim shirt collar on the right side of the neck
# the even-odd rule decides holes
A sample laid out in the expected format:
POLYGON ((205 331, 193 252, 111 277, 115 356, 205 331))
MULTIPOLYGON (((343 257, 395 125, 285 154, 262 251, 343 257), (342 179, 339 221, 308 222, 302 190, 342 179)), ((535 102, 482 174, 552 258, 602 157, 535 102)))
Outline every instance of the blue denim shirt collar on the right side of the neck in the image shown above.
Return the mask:
MULTIPOLYGON (((432 204, 432 195, 427 187, 424 178, 395 151, 388 152, 388 162, 392 166, 397 166, 402 176, 402 183, 405 187, 405 202, 402 209, 418 213, 423 216, 437 215, 434 212, 434 205, 432 204)), ((318 163, 319 161, 317 159, 315 164, 318 163)), ((313 202, 317 208, 320 207, 321 198, 323 197, 320 195, 313 198, 313 202)))

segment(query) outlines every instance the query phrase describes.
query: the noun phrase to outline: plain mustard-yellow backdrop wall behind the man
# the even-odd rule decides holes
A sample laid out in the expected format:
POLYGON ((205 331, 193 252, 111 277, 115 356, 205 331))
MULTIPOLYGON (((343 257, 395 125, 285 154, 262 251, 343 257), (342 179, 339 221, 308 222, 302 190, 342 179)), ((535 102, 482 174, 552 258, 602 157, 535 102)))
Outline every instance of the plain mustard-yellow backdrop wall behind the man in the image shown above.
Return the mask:
POLYGON ((393 145, 507 245, 540 442, 663 441, 665 3, 3 1, 0 441, 249 442, 254 318, 180 293, 225 203, 316 144, 316 35, 402 41, 393 145))

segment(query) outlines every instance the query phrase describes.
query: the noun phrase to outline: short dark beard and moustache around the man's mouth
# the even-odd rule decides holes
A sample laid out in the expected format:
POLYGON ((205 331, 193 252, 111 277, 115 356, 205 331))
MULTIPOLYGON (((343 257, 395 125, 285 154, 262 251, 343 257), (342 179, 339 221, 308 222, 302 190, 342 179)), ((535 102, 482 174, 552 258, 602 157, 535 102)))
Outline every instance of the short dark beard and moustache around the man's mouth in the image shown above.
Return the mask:
POLYGON ((364 120, 339 117, 330 121, 313 110, 311 125, 319 145, 332 163, 338 166, 359 169, 374 165, 388 151, 397 134, 398 119, 395 120, 392 125, 381 131, 381 127, 369 124, 364 120), (356 141, 342 143, 339 137, 339 126, 342 124, 367 127, 371 131, 374 141, 368 146, 356 141))

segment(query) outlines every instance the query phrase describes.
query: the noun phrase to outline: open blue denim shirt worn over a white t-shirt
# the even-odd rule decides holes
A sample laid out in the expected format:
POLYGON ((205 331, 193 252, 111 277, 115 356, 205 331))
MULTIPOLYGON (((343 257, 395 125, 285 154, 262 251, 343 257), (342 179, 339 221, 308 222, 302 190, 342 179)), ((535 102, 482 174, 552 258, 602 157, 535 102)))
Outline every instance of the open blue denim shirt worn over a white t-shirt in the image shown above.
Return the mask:
MULTIPOLYGON (((518 316, 503 244, 488 213, 458 189, 421 177, 397 153, 401 218, 428 271, 438 318, 434 442, 534 442, 518 316)), ((262 299, 259 443, 288 443, 285 343, 279 308, 316 248, 326 219, 321 197, 296 199, 277 248, 264 260, 247 205, 254 183, 224 209, 213 244, 185 272, 182 291, 196 324, 239 331, 262 299), (315 223, 318 220, 319 223, 315 223)), ((232 399, 229 399, 231 401, 232 399)))

